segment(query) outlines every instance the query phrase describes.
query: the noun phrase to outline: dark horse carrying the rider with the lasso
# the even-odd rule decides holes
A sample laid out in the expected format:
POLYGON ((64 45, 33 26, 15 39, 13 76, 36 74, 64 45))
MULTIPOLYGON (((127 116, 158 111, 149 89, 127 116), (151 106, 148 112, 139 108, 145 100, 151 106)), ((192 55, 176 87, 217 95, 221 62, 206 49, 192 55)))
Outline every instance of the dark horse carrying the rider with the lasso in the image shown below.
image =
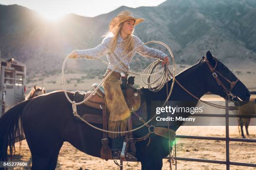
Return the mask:
MULTIPOLYGON (((213 60, 210 52, 207 52, 207 60, 212 67, 215 66, 215 60, 213 60)), ((223 63, 218 60, 216 62, 218 62, 216 70, 222 75, 230 81, 237 79, 223 63)), ((225 87, 230 87, 230 84, 225 79, 219 78, 225 87)), ((207 63, 202 59, 197 64, 177 75, 176 79, 198 98, 209 91, 221 97, 226 97, 223 87, 217 84, 215 78, 212 77, 207 63)), ((169 88, 171 84, 172 80, 168 82, 169 88)), ((151 92, 147 88, 141 88, 141 90, 146 98, 148 117, 151 117, 151 101, 164 101, 166 99, 166 85, 159 92, 151 92)), ((232 93, 245 102, 250 98, 250 92, 241 81, 236 83, 232 93)), ((73 99, 72 92, 68 92, 68 96, 71 100, 73 99)), ((194 107, 198 102, 177 83, 174 84, 169 100, 194 101, 194 107)), ((237 97, 234 100, 238 100, 237 97)), ((78 120, 72 112, 72 105, 65 97, 63 91, 40 95, 12 107, 0 119, 0 161, 7 160, 8 145, 10 148, 14 147, 14 136, 16 133, 20 133, 20 129, 17 126, 19 117, 22 118, 24 133, 31 150, 33 170, 54 170, 59 150, 64 141, 71 143, 75 148, 88 155, 100 158, 102 132, 78 120)), ((87 112, 101 113, 101 110, 88 107, 87 112)), ((190 115, 189 113, 179 114, 182 117, 190 115)), ((174 131, 183 122, 175 123, 175 126, 171 126, 171 129, 174 131)), ((101 125, 95 126, 102 128, 101 125)), ((147 133, 148 128, 143 127, 140 130, 134 131, 133 136, 138 138, 147 133)), ((169 154, 168 140, 154 133, 150 137, 151 143, 148 146, 146 146, 147 140, 136 143, 136 157, 141 162, 142 170, 161 170, 162 160, 169 154)))

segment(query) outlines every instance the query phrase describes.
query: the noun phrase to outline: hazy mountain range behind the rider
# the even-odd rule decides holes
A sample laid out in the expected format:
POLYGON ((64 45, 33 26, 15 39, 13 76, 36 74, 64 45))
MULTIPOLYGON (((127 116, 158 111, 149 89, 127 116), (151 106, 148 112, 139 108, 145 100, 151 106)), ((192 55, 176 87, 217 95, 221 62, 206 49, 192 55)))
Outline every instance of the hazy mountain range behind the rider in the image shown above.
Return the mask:
MULTIPOLYGON (((167 0, 155 7, 121 6, 93 18, 66 14, 55 21, 27 7, 0 5, 1 57, 26 63, 30 77, 59 73, 70 52, 99 45, 110 20, 122 10, 145 18, 134 34, 143 42, 164 42, 177 63, 194 64, 207 50, 226 63, 256 62, 255 0, 167 0)), ((164 46, 148 46, 169 55, 164 46)), ((144 68, 152 61, 139 55, 133 60, 131 68, 144 68)), ((68 60, 66 69, 79 72, 106 67, 96 60, 78 59, 68 60)))

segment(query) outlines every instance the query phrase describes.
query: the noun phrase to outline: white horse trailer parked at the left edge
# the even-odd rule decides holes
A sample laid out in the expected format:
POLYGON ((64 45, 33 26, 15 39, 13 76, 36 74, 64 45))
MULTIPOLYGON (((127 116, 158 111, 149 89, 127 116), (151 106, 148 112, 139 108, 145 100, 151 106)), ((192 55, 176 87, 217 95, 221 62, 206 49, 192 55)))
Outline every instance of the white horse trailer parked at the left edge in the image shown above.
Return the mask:
POLYGON ((13 58, 0 58, 0 117, 25 100, 26 65, 13 58))

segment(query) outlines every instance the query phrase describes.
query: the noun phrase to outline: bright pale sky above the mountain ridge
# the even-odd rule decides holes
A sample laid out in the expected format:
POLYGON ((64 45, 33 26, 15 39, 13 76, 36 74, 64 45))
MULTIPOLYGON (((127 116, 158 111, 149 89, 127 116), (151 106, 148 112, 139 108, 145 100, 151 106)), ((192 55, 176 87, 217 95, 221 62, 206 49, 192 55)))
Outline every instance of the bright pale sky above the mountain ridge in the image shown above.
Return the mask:
POLYGON ((18 4, 37 10, 46 18, 59 18, 65 13, 95 17, 124 5, 127 7, 157 6, 166 0, 0 0, 1 5, 18 4))

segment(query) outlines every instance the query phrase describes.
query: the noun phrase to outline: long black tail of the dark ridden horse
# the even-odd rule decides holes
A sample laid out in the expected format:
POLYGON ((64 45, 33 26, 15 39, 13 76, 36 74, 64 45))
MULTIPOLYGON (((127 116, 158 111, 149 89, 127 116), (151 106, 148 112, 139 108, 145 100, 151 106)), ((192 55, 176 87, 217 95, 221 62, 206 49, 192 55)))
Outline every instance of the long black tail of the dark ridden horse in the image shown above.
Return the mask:
POLYGON ((8 160, 8 145, 10 148, 10 158, 12 160, 13 150, 15 154, 15 138, 18 137, 19 141, 22 140, 23 130, 22 126, 19 127, 19 119, 28 102, 30 102, 30 100, 18 103, 7 110, 0 118, 0 161, 8 160))

